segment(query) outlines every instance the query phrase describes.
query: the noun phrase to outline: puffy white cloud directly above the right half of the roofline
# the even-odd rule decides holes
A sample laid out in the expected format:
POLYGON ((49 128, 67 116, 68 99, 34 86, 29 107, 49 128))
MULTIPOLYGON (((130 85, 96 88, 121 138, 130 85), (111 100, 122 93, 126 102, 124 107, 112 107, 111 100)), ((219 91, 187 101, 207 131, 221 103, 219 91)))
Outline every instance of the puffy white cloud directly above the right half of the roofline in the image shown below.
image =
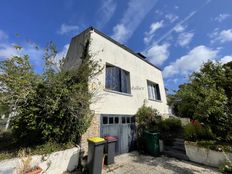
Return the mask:
POLYGON ((163 45, 153 45, 144 54, 148 57, 148 60, 154 65, 162 65, 169 56, 169 44, 165 43, 163 45))

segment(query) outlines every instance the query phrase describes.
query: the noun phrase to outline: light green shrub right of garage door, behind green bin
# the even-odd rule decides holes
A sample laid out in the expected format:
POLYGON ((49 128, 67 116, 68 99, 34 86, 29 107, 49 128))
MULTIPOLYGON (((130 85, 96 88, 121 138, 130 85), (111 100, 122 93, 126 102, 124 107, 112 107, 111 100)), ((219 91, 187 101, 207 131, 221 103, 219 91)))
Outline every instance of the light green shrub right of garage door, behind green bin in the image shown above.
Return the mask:
POLYGON ((137 132, 137 146, 140 152, 144 151, 144 131, 157 132, 158 123, 161 120, 161 115, 156 109, 143 104, 135 115, 136 117, 136 132, 137 132))

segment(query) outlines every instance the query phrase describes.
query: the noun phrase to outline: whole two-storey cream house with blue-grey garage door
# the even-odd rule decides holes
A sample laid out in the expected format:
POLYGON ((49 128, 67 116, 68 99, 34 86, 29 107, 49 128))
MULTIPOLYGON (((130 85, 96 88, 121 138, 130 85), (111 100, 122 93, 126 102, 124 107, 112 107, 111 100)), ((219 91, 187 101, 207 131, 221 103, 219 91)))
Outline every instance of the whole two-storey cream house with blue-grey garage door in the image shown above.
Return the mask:
POLYGON ((168 114, 161 70, 142 54, 93 27, 72 38, 65 69, 78 68, 87 40, 93 59, 99 61, 103 70, 90 81, 90 86, 98 85, 98 97, 90 106, 95 117, 81 144, 85 148, 88 137, 113 135, 119 138, 117 152, 128 152, 136 138, 134 115, 144 102, 163 115, 168 114))

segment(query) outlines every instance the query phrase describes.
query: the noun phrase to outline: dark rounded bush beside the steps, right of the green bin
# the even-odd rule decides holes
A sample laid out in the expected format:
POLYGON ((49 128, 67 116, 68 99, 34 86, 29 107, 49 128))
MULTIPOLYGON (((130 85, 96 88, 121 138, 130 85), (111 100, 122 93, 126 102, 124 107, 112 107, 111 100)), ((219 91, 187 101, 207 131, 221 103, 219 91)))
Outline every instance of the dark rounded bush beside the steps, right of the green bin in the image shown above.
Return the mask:
POLYGON ((159 123, 159 130, 164 144, 171 145, 182 131, 181 121, 175 118, 165 119, 159 123))

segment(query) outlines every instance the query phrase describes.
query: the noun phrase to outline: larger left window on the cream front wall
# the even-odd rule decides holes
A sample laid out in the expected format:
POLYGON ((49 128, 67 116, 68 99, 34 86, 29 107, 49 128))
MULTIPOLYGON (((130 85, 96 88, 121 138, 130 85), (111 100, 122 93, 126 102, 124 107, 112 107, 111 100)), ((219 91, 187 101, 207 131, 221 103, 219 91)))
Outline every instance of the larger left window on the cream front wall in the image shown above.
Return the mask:
POLYGON ((106 65, 106 89, 130 93, 130 73, 112 66, 106 65))

